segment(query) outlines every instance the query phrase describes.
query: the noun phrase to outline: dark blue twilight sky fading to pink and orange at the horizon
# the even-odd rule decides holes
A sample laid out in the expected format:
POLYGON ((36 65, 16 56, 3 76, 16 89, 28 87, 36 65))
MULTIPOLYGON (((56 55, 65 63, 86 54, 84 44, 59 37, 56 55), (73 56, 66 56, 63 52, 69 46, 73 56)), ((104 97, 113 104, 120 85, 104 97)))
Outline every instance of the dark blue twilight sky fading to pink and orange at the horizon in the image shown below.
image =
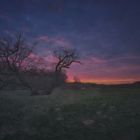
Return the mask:
POLYGON ((43 56, 76 48, 82 65, 72 65, 69 80, 140 80, 139 0, 0 0, 0 35, 15 32, 38 41, 43 56))

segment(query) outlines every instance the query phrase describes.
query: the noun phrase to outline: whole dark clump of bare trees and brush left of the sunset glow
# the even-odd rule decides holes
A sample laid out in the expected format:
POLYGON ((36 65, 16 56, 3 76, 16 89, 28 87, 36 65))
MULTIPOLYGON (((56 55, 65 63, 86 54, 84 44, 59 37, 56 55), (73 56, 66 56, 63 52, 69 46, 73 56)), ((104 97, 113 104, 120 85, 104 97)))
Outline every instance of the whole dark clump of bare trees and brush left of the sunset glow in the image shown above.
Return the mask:
POLYGON ((23 39, 22 34, 15 39, 0 38, 0 89, 18 81, 31 90, 31 95, 40 94, 40 90, 43 94, 51 94, 55 87, 65 82, 64 69, 70 68, 72 63, 80 63, 75 49, 60 49, 54 51, 58 60, 55 71, 47 72, 42 64, 32 62, 31 53, 33 46, 23 39))

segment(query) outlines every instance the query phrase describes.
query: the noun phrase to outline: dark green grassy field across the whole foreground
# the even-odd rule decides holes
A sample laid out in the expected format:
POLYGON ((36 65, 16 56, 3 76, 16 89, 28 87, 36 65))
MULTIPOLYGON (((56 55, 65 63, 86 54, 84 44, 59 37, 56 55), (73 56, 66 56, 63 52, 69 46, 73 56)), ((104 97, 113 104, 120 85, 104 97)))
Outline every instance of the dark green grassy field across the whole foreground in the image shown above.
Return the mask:
POLYGON ((140 140, 140 88, 0 91, 0 140, 140 140))

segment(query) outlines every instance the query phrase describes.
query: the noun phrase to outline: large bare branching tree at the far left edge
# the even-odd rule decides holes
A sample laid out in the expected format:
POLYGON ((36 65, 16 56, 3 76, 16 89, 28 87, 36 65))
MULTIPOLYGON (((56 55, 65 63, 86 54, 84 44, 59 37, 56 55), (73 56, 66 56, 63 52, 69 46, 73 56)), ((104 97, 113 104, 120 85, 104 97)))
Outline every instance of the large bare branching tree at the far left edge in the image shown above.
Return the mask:
POLYGON ((18 78, 24 86, 30 87, 21 75, 21 71, 31 52, 32 47, 25 43, 22 34, 18 34, 15 40, 8 37, 0 38, 1 89, 12 80, 13 76, 18 78))

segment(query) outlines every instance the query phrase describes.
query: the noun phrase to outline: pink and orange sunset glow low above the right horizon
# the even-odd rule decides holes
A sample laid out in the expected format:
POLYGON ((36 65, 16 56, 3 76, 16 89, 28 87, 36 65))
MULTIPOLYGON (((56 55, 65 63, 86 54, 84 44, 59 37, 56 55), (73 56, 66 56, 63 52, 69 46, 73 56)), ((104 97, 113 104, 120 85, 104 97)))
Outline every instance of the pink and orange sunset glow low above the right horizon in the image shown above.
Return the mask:
POLYGON ((106 60, 99 57, 87 57, 81 60, 82 65, 74 64, 67 71, 68 81, 77 76, 82 82, 96 83, 126 83, 140 80, 140 66, 125 63, 128 60, 139 59, 137 56, 127 56, 118 59, 106 60), (123 62, 124 61, 124 62, 123 62), (123 63, 121 63, 123 62, 123 63))

